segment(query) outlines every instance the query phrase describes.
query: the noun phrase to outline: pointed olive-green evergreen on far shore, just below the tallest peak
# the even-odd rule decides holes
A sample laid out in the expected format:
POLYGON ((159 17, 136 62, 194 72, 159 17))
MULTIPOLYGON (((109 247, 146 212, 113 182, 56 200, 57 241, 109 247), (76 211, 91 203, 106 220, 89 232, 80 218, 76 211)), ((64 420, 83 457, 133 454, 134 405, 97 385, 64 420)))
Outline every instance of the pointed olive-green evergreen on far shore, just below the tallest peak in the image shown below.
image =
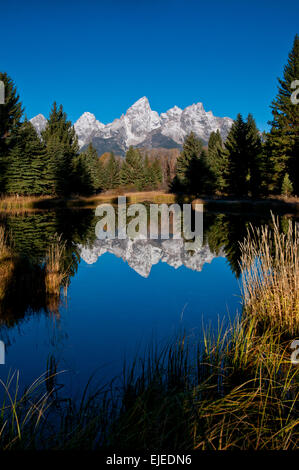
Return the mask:
POLYGON ((126 153, 120 170, 120 181, 124 185, 134 185, 138 191, 145 187, 144 165, 141 153, 132 146, 126 153))

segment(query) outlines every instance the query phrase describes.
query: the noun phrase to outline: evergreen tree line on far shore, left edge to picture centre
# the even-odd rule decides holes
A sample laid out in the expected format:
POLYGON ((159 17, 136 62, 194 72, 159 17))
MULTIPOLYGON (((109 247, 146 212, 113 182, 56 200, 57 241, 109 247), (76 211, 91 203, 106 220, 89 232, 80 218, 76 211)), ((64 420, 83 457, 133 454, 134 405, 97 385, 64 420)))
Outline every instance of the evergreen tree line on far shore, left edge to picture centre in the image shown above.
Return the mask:
POLYGON ((113 153, 102 162, 90 144, 79 153, 74 127, 62 105, 56 103, 45 129, 37 134, 23 115, 12 79, 5 84, 5 104, 0 106, 0 193, 19 195, 94 194, 120 186, 156 189, 162 181, 158 158, 149 159, 130 147, 125 158, 113 153))

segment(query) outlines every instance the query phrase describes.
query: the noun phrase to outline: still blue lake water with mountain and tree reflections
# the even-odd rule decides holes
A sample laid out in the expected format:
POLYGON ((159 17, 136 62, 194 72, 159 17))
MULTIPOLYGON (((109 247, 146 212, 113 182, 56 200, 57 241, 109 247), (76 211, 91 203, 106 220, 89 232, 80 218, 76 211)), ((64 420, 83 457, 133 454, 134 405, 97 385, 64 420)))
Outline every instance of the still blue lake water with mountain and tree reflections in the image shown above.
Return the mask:
POLYGON ((204 212, 203 247, 188 253, 181 240, 97 240, 94 210, 2 214, 14 257, 0 263, 1 379, 19 370, 29 385, 52 357, 75 397, 92 374, 109 382, 152 342, 217 329, 241 312, 239 242, 250 223, 269 219, 204 212), (49 295, 45 260, 56 234, 67 274, 49 295))

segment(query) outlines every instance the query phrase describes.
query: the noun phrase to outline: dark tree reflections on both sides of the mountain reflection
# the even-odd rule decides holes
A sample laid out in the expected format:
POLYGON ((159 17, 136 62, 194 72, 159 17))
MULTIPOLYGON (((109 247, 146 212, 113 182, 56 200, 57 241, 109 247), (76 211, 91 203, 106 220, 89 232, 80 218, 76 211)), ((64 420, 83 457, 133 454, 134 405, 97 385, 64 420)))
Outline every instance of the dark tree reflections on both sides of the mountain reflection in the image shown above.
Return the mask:
MULTIPOLYGON (((63 290, 80 262, 77 244, 93 245, 97 221, 94 211, 86 209, 2 215, 0 226, 9 235, 11 256, 2 260, 0 257, 0 324, 11 327, 40 312, 59 317, 63 290), (57 264, 49 269, 49 250, 58 236, 63 250, 57 264)), ((246 214, 205 212, 204 242, 213 253, 224 250, 232 271, 239 276, 239 242, 246 236, 250 223, 269 222, 270 214, 262 219, 246 214)))

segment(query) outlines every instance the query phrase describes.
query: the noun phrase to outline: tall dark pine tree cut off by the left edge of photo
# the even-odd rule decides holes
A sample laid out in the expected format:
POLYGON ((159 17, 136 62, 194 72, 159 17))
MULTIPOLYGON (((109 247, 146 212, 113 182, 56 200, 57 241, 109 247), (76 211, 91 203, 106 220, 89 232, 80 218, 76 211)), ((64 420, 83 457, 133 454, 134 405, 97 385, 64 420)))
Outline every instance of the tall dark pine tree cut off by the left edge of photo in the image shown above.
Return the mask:
POLYGON ((16 86, 7 73, 0 73, 4 83, 5 104, 0 105, 0 193, 4 191, 7 154, 12 148, 15 134, 20 126, 23 108, 16 86))

